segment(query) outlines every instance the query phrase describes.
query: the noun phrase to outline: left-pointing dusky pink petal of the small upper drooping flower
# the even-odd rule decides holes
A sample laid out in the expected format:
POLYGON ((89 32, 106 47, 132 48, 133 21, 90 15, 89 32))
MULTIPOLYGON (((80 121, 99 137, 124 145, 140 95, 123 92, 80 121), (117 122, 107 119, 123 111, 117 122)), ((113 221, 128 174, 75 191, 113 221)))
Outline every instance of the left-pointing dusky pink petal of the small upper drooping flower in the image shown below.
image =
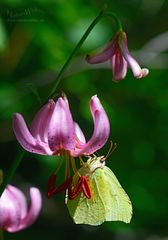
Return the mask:
POLYGON ((107 60, 109 60, 115 52, 116 39, 117 39, 117 34, 109 42, 107 47, 104 48, 100 53, 95 54, 95 55, 87 55, 86 61, 90 64, 97 64, 97 63, 103 63, 103 62, 106 62, 107 60))

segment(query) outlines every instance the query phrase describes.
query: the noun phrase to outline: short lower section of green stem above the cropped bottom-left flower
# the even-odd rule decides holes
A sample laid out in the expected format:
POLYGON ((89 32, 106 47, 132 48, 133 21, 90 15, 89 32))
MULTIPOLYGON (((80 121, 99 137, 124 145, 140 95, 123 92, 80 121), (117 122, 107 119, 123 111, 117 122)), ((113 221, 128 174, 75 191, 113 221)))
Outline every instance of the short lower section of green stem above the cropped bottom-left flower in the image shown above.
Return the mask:
POLYGON ((25 151, 24 150, 20 150, 18 152, 18 155, 16 156, 16 158, 14 159, 9 172, 7 173, 7 175, 4 176, 3 182, 0 186, 0 196, 2 195, 4 189, 6 188, 7 184, 10 182, 10 180, 12 179, 16 169, 18 168, 21 160, 23 159, 23 156, 25 155, 25 151))

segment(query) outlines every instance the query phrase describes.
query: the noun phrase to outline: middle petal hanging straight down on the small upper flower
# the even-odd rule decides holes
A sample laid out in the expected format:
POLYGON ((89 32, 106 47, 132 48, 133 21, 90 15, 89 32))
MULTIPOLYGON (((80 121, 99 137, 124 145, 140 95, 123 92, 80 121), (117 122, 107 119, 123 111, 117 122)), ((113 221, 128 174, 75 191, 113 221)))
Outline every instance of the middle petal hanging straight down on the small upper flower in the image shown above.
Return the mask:
POLYGON ((127 73, 127 62, 123 58, 121 51, 118 50, 112 57, 113 81, 118 82, 125 78, 127 73))

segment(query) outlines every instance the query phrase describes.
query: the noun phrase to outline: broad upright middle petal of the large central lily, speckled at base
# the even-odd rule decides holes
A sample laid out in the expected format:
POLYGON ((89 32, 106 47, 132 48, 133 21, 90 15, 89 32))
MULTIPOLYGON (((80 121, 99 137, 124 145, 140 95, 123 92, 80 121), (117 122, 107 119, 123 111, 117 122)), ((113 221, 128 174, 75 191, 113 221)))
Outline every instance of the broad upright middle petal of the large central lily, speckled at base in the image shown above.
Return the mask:
POLYGON ((48 131, 49 146, 52 151, 61 148, 72 150, 75 148, 75 128, 68 101, 59 98, 51 117, 48 131))

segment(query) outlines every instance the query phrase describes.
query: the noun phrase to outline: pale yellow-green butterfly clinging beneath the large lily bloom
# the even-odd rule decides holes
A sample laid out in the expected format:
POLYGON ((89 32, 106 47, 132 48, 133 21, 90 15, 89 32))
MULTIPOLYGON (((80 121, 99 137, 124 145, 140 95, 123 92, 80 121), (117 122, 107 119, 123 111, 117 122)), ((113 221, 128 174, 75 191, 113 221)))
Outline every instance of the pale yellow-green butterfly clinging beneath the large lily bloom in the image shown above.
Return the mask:
POLYGON ((78 189, 76 196, 67 197, 67 207, 76 224, 100 225, 105 221, 129 223, 132 217, 131 201, 110 168, 105 157, 90 157, 76 172, 72 191, 81 176, 87 177, 91 196, 78 189))

